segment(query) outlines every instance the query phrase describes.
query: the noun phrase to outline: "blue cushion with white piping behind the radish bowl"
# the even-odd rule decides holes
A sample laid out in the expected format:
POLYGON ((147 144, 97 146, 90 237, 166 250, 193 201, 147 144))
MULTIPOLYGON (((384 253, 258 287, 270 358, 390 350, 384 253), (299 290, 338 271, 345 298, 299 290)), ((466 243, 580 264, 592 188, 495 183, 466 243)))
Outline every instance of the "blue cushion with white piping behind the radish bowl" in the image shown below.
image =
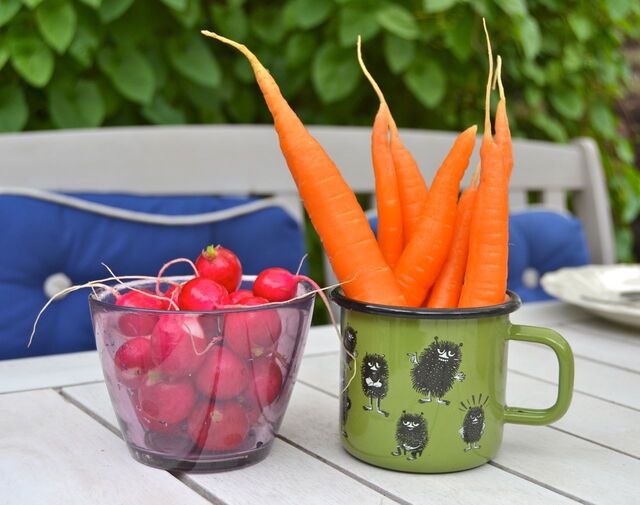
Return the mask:
MULTIPOLYGON (((248 197, 167 197, 76 194, 113 207, 153 214, 188 215, 228 209, 248 197)), ((31 326, 48 297, 43 283, 66 274, 74 284, 118 275, 155 275, 175 257, 194 259, 208 244, 222 244, 240 258, 244 272, 297 268, 304 254, 300 224, 280 207, 268 207, 222 222, 163 226, 105 217, 23 196, 0 196, 0 359, 95 348, 88 290, 70 294, 44 313, 30 348, 31 326)), ((188 274, 186 266, 169 274, 188 274)))

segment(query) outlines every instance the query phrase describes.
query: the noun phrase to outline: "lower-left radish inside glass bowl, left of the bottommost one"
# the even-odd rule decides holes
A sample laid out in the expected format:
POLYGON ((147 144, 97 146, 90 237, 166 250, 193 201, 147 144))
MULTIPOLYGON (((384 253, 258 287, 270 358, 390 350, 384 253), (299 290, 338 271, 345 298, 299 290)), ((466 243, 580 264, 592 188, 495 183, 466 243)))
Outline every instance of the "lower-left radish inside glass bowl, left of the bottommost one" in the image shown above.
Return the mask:
POLYGON ((154 422, 168 426, 187 418, 196 401, 196 392, 191 381, 165 382, 159 374, 147 374, 138 389, 140 416, 147 418, 150 426, 154 422))

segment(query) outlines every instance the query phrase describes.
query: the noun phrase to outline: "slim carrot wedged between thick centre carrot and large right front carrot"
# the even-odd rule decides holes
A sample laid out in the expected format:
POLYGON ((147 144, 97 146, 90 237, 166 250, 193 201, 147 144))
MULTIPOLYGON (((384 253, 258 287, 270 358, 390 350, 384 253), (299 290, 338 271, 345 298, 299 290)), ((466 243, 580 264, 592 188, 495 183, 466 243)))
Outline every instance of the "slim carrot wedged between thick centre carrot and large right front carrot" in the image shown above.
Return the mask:
POLYGON ((440 275, 431 289, 427 307, 431 308, 455 308, 460 301, 464 271, 467 266, 469 253, 469 228, 473 215, 473 204, 476 197, 476 179, 480 166, 476 169, 471 181, 471 186, 462 192, 456 211, 456 224, 453 232, 451 250, 440 275))

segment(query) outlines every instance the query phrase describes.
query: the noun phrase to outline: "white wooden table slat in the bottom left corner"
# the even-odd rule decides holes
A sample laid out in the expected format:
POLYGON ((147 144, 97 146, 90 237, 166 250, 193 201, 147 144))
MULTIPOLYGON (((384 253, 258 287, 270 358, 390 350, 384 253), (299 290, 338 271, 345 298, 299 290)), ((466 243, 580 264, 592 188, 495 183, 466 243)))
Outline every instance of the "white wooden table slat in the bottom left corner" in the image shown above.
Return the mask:
POLYGON ((209 503, 55 391, 0 396, 0 433, 3 505, 209 503))

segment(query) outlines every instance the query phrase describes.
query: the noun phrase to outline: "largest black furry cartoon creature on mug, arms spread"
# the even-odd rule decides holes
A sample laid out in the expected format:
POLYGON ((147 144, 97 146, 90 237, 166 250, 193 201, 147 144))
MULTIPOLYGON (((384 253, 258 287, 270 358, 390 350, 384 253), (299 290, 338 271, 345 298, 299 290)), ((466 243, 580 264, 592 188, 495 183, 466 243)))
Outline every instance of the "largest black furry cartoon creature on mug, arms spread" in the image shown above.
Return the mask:
POLYGON ((414 352, 408 353, 411 363, 415 364, 411 370, 413 388, 427 395, 418 400, 420 403, 429 403, 433 395, 438 403, 449 405, 449 400, 442 397, 453 387, 454 381, 464 380, 464 373, 458 372, 462 360, 461 347, 462 344, 440 341, 436 337, 420 357, 414 352))

